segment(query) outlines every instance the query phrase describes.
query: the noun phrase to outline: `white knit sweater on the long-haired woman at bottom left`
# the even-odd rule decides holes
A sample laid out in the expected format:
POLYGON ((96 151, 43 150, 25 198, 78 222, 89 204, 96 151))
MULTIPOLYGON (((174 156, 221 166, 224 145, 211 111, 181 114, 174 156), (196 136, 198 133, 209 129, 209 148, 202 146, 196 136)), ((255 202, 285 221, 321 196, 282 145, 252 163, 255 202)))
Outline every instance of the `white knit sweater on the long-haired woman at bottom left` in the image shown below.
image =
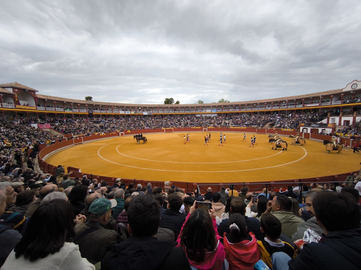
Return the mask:
POLYGON ((64 246, 54 254, 49 254, 45 258, 31 262, 24 256, 15 258, 15 252, 12 251, 6 259, 1 270, 95 270, 95 266, 82 258, 79 247, 74 243, 64 243, 64 246))

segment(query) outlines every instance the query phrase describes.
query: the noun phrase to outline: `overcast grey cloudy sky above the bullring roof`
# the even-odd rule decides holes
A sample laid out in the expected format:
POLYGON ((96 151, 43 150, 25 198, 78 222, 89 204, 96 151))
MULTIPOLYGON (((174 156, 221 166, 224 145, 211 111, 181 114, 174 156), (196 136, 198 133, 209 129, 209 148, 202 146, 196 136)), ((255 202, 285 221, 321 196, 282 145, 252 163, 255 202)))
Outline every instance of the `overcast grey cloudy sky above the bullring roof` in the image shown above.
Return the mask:
POLYGON ((0 2, 0 83, 95 101, 247 101, 361 80, 361 1, 0 2))

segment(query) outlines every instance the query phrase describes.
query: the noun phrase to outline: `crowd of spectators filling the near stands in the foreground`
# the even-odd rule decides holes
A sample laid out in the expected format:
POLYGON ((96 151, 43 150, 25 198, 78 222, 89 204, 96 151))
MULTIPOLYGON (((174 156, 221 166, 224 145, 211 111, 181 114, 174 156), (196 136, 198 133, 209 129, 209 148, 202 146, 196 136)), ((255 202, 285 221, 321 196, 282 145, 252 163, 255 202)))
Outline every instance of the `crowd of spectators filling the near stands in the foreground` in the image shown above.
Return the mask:
POLYGON ((361 182, 184 194, 17 171, 0 178, 1 269, 359 269, 361 182))

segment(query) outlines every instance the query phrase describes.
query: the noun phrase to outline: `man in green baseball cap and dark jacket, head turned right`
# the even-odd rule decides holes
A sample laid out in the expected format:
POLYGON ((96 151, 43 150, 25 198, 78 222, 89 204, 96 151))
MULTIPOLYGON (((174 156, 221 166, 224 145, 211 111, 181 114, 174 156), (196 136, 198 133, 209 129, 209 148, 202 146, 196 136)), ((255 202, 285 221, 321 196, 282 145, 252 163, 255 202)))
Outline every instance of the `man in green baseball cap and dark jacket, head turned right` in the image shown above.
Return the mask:
POLYGON ((89 207, 90 220, 75 225, 77 237, 74 243, 79 246, 82 256, 92 264, 100 262, 105 252, 121 241, 117 231, 106 227, 112 216, 112 208, 116 205, 116 200, 96 199, 89 207))

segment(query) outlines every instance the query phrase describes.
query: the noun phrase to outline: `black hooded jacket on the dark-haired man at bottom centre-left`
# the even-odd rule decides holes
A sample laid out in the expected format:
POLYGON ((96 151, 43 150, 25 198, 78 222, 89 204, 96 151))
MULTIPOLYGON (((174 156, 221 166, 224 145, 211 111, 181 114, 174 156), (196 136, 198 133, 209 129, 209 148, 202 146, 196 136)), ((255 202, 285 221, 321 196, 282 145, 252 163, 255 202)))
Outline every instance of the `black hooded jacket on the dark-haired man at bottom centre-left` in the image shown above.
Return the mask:
POLYGON ((101 261, 102 270, 189 270, 182 248, 155 237, 130 237, 113 246, 101 261))

